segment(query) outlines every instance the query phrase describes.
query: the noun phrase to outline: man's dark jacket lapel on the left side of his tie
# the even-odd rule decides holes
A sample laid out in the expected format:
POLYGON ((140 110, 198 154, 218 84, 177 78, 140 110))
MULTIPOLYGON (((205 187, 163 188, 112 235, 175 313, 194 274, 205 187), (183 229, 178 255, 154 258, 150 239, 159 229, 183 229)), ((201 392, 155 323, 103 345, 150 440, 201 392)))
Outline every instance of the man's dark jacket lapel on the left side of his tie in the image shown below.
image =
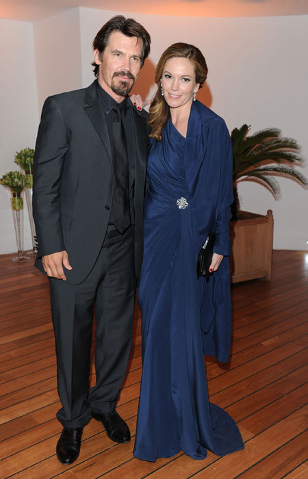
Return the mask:
POLYGON ((103 108, 99 102, 99 97, 97 96, 97 87, 95 85, 95 81, 88 88, 86 88, 84 103, 86 103, 86 106, 84 106, 84 111, 88 115, 88 118, 90 119, 94 129, 96 129, 99 138, 101 138, 107 155, 112 162, 112 151, 107 123, 105 120, 105 115, 103 114, 103 108))

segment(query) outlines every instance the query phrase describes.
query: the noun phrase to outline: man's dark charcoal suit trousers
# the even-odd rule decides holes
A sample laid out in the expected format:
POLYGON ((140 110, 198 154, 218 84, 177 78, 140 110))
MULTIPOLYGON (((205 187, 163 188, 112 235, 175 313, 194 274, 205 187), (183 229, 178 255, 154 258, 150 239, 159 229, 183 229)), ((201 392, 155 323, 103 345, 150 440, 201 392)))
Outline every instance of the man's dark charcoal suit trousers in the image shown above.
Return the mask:
POLYGON ((57 390, 65 428, 85 426, 93 413, 113 411, 125 376, 136 279, 134 226, 120 235, 108 226, 99 257, 82 283, 49 278, 57 354, 57 390), (95 308, 96 384, 89 391, 95 308))

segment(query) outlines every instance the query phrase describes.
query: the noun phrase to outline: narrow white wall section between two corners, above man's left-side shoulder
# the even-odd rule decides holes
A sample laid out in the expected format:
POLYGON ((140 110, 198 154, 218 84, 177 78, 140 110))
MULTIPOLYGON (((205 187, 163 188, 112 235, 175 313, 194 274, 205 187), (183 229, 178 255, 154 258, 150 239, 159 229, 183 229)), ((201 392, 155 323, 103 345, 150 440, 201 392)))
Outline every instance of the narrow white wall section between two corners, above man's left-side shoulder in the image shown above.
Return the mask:
POLYGON ((81 88, 79 8, 34 22, 38 108, 47 96, 81 88))

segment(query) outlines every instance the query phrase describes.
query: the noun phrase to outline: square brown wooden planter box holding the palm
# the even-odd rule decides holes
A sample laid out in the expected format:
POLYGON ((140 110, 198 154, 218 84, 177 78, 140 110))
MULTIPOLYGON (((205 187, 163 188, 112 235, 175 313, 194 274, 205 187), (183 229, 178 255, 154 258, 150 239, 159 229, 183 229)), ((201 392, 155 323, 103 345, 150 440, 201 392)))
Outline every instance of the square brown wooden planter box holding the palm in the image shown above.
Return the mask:
POLYGON ((232 254, 231 283, 255 278, 270 279, 272 270, 273 217, 240 211, 240 218, 230 222, 232 254))

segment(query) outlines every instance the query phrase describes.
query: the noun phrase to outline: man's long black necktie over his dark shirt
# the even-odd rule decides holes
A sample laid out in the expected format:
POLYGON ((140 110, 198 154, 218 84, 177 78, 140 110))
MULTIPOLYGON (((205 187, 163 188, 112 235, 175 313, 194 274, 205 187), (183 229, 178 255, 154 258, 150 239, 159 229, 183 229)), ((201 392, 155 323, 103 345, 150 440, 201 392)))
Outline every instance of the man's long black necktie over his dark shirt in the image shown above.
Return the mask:
POLYGON ((114 211, 114 226, 123 234, 131 224, 129 205, 129 168, 127 144, 121 118, 121 109, 114 108, 116 117, 112 123, 114 143, 114 195, 112 205, 114 211))

